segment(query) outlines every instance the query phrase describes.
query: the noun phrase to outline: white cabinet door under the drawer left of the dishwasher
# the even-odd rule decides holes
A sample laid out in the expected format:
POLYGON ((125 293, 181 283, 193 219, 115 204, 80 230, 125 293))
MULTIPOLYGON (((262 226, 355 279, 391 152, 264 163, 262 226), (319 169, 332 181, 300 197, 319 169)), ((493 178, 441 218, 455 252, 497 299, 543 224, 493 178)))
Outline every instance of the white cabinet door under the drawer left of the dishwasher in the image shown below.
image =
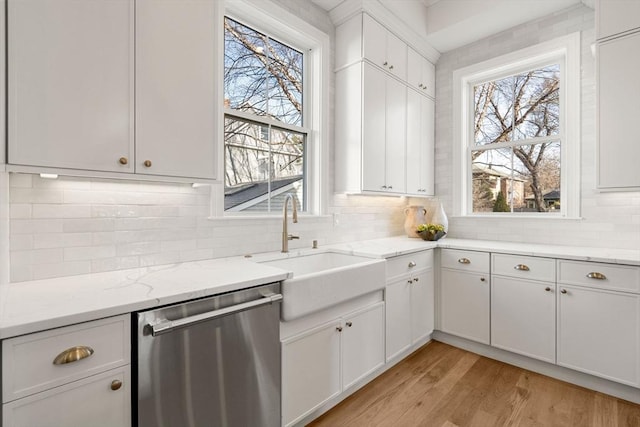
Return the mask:
POLYGON ((6 403, 2 408, 2 425, 127 427, 131 425, 130 408, 127 365, 6 403))

